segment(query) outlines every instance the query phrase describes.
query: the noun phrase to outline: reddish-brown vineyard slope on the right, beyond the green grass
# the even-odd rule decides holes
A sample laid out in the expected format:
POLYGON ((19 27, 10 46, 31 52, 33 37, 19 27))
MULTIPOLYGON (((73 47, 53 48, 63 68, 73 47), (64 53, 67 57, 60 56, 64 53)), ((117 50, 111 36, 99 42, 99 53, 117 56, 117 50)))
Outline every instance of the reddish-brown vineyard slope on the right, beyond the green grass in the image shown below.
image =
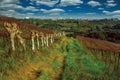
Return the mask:
POLYGON ((83 36, 76 36, 76 38, 88 49, 120 53, 120 44, 83 36))

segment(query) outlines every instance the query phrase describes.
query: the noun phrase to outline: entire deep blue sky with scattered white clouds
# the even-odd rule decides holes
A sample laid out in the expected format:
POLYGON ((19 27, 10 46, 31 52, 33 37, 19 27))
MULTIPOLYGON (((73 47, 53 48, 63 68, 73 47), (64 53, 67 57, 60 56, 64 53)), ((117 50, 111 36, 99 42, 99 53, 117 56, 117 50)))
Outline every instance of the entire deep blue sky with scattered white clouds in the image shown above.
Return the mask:
POLYGON ((0 0, 0 15, 16 18, 120 19, 120 0, 0 0))

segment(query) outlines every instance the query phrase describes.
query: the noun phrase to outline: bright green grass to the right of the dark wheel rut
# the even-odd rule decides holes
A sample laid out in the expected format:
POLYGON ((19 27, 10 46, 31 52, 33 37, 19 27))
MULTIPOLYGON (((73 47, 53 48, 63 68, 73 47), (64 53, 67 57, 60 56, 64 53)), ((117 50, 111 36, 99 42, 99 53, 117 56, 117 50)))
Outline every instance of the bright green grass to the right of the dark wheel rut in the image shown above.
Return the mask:
POLYGON ((106 68, 104 62, 90 55, 77 40, 71 39, 67 46, 63 80, 116 80, 118 78, 114 75, 115 72, 111 76, 105 76, 106 70, 111 74, 112 69, 106 68))

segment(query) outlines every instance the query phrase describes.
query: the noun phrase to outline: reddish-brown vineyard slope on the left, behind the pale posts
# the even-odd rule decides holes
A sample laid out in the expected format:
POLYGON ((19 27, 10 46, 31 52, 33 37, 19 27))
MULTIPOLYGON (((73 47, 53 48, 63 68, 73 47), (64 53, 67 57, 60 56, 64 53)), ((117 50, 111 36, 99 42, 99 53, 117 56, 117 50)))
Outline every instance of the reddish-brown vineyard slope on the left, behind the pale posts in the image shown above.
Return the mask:
POLYGON ((8 33, 6 32, 5 28, 3 27, 3 22, 15 22, 18 24, 19 26, 19 29, 22 31, 22 36, 24 38, 30 38, 30 30, 37 30, 37 31, 40 31, 40 32, 43 32, 43 33, 53 33, 52 30, 48 30, 47 28, 38 28, 37 26, 35 25, 32 25, 32 24, 27 24, 21 20, 18 20, 18 19, 14 19, 14 18, 8 18, 8 17, 5 17, 5 16, 0 16, 0 35, 4 35, 4 36, 7 36, 8 37, 8 33))

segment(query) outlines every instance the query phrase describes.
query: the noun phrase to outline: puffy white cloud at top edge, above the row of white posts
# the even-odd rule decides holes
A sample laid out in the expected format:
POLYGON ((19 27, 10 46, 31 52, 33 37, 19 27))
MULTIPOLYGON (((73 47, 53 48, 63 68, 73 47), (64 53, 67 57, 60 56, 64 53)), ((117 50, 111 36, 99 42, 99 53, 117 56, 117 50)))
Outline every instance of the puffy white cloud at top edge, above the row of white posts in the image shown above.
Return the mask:
POLYGON ((46 6, 49 6, 49 7, 53 7, 56 3, 59 2, 59 0, 54 0, 54 1, 51 1, 51 0, 31 0, 31 3, 35 2, 35 4, 37 5, 46 5, 46 6))

